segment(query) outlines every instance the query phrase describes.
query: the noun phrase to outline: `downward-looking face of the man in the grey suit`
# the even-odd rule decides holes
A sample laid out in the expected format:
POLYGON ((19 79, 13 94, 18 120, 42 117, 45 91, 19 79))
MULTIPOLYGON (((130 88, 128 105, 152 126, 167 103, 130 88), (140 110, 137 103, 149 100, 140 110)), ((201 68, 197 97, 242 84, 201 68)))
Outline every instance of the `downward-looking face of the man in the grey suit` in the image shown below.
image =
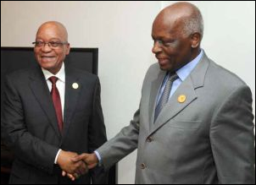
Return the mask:
POLYGON ((159 60, 159 66, 164 71, 175 71, 189 62, 191 56, 190 39, 181 35, 178 25, 153 24, 152 52, 159 60))

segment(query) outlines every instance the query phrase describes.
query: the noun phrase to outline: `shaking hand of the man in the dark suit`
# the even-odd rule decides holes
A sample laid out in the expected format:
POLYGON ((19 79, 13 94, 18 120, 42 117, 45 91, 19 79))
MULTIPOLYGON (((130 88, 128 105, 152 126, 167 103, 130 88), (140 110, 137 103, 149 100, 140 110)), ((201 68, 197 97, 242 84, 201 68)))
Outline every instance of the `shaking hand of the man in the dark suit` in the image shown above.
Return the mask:
POLYGON ((60 168, 63 171, 66 171, 67 173, 70 173, 70 174, 75 174, 75 173, 78 175, 86 174, 88 169, 85 162, 71 160, 76 155, 77 154, 75 152, 61 150, 57 159, 58 166, 60 166, 60 168))

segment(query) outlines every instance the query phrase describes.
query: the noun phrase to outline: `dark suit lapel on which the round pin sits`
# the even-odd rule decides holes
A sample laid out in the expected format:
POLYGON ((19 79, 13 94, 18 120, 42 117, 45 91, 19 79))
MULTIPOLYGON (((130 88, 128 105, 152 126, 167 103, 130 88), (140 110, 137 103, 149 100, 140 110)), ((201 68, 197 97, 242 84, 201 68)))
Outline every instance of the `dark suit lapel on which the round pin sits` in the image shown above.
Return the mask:
POLYGON ((70 122, 73 114, 75 113, 75 106, 77 104, 79 95, 81 93, 81 83, 79 78, 76 77, 75 72, 70 68, 65 68, 65 103, 64 103, 64 129, 63 139, 67 135, 70 128, 70 122), (73 87, 73 84, 78 84, 78 87, 73 87))

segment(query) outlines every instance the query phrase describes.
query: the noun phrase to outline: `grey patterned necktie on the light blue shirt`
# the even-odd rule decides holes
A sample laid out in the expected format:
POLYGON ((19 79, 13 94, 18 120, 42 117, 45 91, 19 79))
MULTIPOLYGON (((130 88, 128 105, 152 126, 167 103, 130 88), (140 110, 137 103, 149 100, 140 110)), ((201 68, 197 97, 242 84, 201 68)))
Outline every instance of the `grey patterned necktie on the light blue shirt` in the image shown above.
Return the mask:
POLYGON ((165 84, 163 94, 162 94, 162 96, 159 100, 159 104, 157 105, 157 107, 155 109, 154 122, 159 117, 159 113, 162 111, 162 109, 164 108, 166 103, 169 101, 170 89, 171 89, 171 86, 172 86, 173 82, 176 79, 178 79, 178 75, 176 73, 170 73, 170 77, 169 77, 168 81, 165 84))

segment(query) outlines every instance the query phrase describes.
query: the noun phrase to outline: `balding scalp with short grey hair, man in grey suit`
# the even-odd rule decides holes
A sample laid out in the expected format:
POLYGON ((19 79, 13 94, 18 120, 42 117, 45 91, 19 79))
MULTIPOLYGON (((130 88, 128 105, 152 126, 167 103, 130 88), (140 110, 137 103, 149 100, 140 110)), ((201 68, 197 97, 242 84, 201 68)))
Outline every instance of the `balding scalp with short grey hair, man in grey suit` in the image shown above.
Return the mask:
POLYGON ((164 8, 155 21, 164 24, 181 24, 181 31, 185 35, 199 33, 203 37, 203 17, 200 10, 192 3, 179 2, 164 8))

